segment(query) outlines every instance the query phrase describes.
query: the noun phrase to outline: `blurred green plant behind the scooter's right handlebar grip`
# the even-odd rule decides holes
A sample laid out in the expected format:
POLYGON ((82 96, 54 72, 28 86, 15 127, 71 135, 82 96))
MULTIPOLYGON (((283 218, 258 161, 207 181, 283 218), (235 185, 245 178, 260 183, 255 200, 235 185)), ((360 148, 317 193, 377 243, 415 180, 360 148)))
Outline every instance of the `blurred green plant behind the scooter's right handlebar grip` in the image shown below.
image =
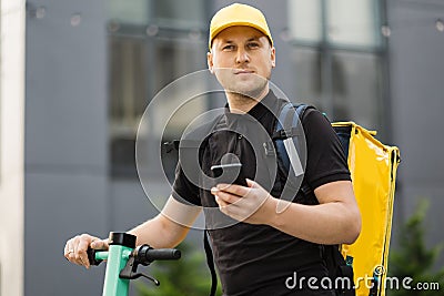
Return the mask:
MULTIPOLYGON (((157 262, 147 273, 161 282, 160 286, 138 282, 140 296, 208 296, 211 287, 211 275, 206 267, 204 252, 184 242, 178 246, 182 258, 178 262, 157 262)), ((221 295, 218 284, 216 295, 221 295)))

